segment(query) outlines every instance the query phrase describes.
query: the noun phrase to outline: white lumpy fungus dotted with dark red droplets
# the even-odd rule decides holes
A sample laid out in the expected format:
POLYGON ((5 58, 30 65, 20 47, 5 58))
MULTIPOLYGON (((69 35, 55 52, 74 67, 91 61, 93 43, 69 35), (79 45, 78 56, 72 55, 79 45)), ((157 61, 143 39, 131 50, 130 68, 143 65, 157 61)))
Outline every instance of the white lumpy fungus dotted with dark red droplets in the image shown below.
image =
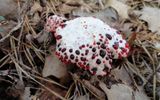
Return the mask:
POLYGON ((94 17, 66 21, 53 15, 47 19, 45 29, 54 33, 56 55, 62 62, 76 63, 95 75, 106 75, 112 59, 126 57, 129 52, 120 32, 94 17))

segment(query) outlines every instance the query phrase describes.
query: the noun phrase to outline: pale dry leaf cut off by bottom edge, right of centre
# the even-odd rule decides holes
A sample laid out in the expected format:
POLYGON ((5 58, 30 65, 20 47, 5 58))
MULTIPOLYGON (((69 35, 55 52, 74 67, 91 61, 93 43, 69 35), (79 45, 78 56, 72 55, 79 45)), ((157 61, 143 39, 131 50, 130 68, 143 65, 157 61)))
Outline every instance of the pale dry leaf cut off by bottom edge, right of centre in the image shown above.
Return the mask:
POLYGON ((150 100, 143 92, 133 91, 125 84, 112 85, 111 89, 108 89, 102 82, 99 86, 106 93, 108 100, 150 100))

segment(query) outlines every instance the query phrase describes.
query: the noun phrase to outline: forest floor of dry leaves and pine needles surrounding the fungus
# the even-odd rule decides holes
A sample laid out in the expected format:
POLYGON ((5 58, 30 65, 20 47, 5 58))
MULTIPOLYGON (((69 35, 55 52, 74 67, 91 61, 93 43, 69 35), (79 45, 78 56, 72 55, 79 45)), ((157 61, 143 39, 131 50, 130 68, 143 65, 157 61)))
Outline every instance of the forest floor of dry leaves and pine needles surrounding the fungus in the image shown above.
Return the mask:
POLYGON ((0 0, 0 100, 160 100, 160 0, 0 0), (101 19, 130 52, 106 76, 64 64, 51 15, 101 19))

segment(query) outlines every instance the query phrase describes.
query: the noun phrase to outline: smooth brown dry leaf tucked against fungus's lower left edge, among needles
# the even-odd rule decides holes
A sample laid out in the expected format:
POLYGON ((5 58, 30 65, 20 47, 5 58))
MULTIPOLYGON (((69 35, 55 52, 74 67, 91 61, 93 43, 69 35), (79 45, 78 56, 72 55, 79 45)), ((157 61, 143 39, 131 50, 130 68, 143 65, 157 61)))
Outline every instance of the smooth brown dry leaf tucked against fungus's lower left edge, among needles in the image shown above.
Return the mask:
MULTIPOLYGON (((52 46, 51 48, 54 49, 55 47, 52 46)), ((56 57, 54 51, 52 52, 52 55, 46 57, 42 75, 43 77, 53 75, 57 78, 62 78, 67 75, 66 65, 56 57)))

